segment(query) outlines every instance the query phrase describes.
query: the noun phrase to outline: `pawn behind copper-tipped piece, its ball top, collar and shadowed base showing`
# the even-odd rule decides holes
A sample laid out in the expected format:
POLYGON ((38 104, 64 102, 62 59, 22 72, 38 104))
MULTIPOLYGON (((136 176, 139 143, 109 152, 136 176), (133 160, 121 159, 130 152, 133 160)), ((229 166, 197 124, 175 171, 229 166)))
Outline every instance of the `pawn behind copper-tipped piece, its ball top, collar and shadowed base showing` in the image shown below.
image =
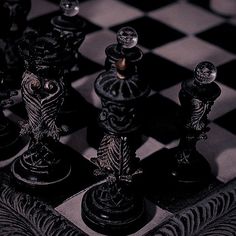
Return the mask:
MULTIPOLYGON (((132 27, 122 27, 117 32, 117 43, 111 44, 105 49, 106 60, 105 69, 110 70, 115 67, 115 63, 120 58, 126 58, 129 61, 130 73, 136 73, 139 62, 143 57, 143 52, 137 47, 138 34, 132 27)), ((92 147, 98 148, 103 136, 103 130, 98 127, 97 122, 94 120, 88 125, 87 128, 87 141, 92 147), (96 130, 97 135, 94 135, 96 130)))

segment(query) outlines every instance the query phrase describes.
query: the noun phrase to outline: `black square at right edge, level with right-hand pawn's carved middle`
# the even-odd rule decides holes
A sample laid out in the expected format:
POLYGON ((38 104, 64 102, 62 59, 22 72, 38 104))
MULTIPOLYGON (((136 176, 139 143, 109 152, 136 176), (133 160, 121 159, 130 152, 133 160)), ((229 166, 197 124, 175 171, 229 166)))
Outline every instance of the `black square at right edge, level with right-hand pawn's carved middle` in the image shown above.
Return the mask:
POLYGON ((236 134, 235 120, 236 120, 236 109, 214 120, 214 122, 220 125, 221 127, 227 129, 231 133, 236 134))

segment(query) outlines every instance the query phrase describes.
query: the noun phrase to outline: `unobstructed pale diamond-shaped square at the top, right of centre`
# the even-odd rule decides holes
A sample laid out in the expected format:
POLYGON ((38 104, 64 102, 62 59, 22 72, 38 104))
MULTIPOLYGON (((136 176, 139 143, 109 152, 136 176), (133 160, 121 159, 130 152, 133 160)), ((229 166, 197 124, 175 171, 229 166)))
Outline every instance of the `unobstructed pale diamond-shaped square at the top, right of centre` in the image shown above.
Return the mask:
POLYGON ((186 2, 152 11, 149 16, 185 34, 196 34, 224 21, 223 18, 186 2))

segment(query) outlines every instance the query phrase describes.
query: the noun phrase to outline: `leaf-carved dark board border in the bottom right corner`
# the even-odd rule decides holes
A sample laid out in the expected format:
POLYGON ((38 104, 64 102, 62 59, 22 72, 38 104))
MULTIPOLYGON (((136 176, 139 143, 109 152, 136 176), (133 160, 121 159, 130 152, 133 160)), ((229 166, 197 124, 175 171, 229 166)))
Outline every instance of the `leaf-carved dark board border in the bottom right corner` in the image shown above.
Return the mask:
POLYGON ((146 236, 233 236, 236 232, 236 187, 232 183, 157 226, 146 236))

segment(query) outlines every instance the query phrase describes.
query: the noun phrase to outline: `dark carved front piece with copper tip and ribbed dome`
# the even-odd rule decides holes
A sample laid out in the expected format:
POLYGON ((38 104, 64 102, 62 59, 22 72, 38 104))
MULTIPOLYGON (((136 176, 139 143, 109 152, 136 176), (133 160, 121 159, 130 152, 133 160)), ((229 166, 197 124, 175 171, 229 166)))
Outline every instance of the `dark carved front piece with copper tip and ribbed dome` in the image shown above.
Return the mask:
POLYGON ((140 227, 144 221, 144 198, 138 186, 139 159, 131 144, 140 125, 140 102, 149 92, 137 73, 129 73, 126 60, 102 73, 95 90, 102 99, 99 123, 105 135, 99 146, 95 175, 106 181, 89 189, 82 200, 82 218, 95 231, 123 235, 140 227))

